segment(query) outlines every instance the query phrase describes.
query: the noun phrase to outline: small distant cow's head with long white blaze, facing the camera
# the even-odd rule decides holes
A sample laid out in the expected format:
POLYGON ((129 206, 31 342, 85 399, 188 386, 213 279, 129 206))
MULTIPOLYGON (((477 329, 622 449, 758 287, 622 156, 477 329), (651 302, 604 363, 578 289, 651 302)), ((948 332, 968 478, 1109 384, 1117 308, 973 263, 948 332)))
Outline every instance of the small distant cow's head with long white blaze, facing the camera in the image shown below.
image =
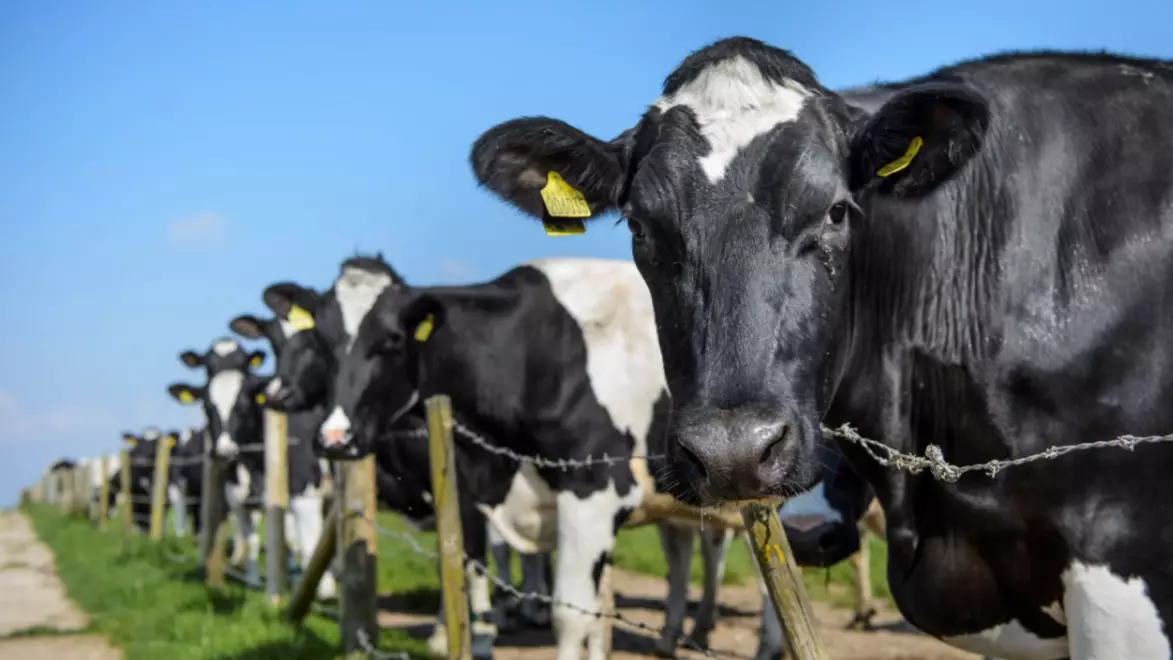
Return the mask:
POLYGON ((203 367, 208 385, 197 388, 172 383, 167 390, 179 403, 202 404, 212 451, 232 457, 240 447, 260 443, 262 406, 271 379, 258 376, 251 368, 264 362, 265 352, 245 353, 235 340, 221 339, 203 355, 185 351, 179 358, 191 368, 203 367))

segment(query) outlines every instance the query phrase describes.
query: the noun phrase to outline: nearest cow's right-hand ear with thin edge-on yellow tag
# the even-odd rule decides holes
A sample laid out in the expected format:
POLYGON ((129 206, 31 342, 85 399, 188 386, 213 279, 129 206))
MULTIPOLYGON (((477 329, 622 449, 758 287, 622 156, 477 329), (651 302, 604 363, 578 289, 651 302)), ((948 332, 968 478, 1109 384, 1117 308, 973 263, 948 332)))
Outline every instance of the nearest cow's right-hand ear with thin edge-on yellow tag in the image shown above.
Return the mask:
POLYGON ((896 94, 852 140, 850 189, 924 197, 977 154, 989 124, 985 100, 963 84, 930 83, 896 94))

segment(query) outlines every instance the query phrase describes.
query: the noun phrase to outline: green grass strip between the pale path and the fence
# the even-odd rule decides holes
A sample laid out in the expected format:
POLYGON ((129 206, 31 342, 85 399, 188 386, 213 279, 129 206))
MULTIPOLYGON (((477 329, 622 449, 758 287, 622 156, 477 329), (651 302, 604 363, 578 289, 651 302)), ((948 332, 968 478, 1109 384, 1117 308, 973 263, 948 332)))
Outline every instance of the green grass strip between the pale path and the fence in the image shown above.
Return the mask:
MULTIPOLYGON (((231 584, 209 590, 190 540, 152 543, 124 538, 121 528, 100 532, 87 520, 67 518, 47 505, 26 509, 38 535, 56 556, 57 573, 70 598, 127 660, 306 660, 338 653, 338 624, 312 613, 301 628, 290 626, 259 591, 231 584)), ((432 571, 434 572, 434 570, 432 571)), ((423 645, 385 631, 379 647, 423 658, 423 645)))

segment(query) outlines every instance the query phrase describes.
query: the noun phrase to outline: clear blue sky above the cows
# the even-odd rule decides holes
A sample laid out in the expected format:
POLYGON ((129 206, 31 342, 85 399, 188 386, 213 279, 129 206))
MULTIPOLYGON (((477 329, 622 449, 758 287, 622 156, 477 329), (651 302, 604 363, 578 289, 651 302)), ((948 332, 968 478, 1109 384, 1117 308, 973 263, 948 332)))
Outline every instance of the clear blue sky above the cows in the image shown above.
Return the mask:
MULTIPOLYGON (((1173 57, 1167 0, 0 4, 0 505, 59 456, 196 424, 178 353, 328 286, 355 250, 413 284, 542 256, 630 258, 479 190, 481 131, 630 125, 692 49, 743 34, 825 84, 1006 48, 1173 57)), ((271 367, 271 358, 267 366, 271 367)))

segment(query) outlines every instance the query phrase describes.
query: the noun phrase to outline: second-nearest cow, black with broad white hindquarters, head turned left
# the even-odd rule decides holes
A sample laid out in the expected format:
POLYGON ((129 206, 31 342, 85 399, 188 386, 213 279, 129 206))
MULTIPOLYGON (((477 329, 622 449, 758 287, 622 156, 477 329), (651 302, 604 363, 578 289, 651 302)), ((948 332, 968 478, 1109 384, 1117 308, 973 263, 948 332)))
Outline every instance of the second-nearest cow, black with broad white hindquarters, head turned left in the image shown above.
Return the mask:
MULTIPOLYGON (((457 420, 491 443, 548 460, 603 454, 613 458, 585 470, 551 470, 518 465, 468 442, 456 444, 461 496, 472 498, 462 501, 462 516, 483 512, 516 549, 531 552, 557 545, 558 656, 576 656, 583 638, 589 638, 589 655, 597 658, 598 628, 583 611, 596 607, 597 581, 603 564, 610 562, 615 532, 656 490, 644 461, 632 465, 623 456, 644 456, 652 442, 647 438, 663 444, 669 410, 663 375, 657 372, 650 301, 635 267, 613 260, 540 260, 489 283, 439 288, 409 288, 392 278, 393 271, 381 260, 350 259, 340 270, 321 300, 303 293, 298 302, 314 318, 317 338, 307 336, 306 346, 317 347, 308 352, 317 351, 317 362, 332 363, 335 373, 328 388, 330 416, 321 428, 325 448, 347 457, 371 451, 388 423, 416 410, 426 394, 442 392, 453 396, 457 420), (442 329, 449 327, 445 320, 449 317, 460 321, 459 329, 442 329), (425 327, 434 328, 438 343, 415 336, 425 327), (429 356, 420 365, 414 363, 418 351, 429 356), (624 360, 646 368, 631 373, 622 367, 624 360), (422 379, 421 372, 428 377, 422 379)), ((305 368, 316 362, 304 355, 299 361, 305 368)), ((279 370, 278 376, 283 389, 290 389, 278 393, 278 400, 306 397, 297 374, 279 370)), ((327 389, 316 382, 307 387, 327 389)), ((405 464, 416 464, 414 471, 427 469, 426 448, 418 442, 394 441, 385 450, 404 454, 405 464)), ((481 562, 483 538, 470 533, 474 524, 463 523, 466 552, 481 562)), ((677 558, 691 558, 693 540, 691 532, 676 532, 660 525, 673 566, 677 558)), ((712 545, 703 553, 706 597, 691 634, 699 645, 713 625, 713 591, 728 537, 714 531, 703 542, 712 545)), ((677 599, 670 598, 669 625, 657 641, 663 655, 671 655, 679 641, 687 586, 686 565, 670 573, 680 591, 673 592, 677 599)), ((487 591, 487 585, 476 571, 470 571, 470 579, 474 617, 480 617, 488 599, 477 592, 487 591)), ((489 635, 482 634, 481 651, 491 642, 489 635)))

